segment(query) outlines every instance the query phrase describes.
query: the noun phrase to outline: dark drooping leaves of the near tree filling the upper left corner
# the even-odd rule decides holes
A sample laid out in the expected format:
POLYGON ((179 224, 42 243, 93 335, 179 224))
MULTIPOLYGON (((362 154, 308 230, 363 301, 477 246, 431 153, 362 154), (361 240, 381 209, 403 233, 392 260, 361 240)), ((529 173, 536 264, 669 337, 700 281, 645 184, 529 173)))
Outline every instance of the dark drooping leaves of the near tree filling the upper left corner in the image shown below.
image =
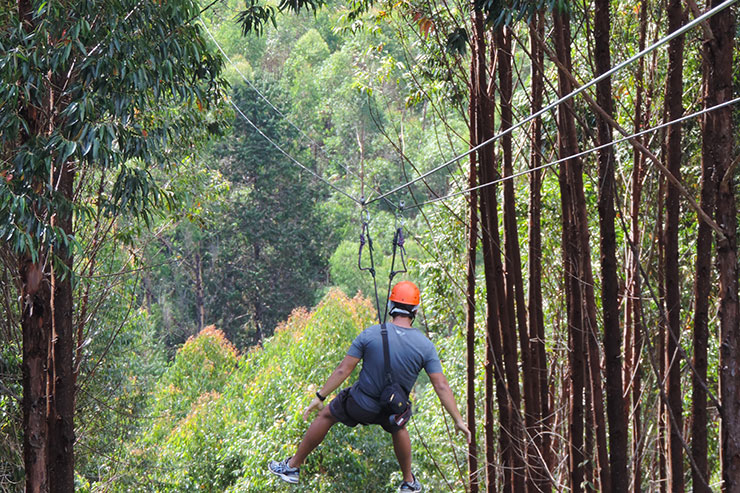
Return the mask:
POLYGON ((191 0, 32 6, 0 41, 0 234, 36 258, 75 244, 44 211, 91 213, 55 185, 64 163, 109 170, 113 190, 96 205, 149 223, 168 200, 149 163, 173 164, 174 140, 194 145, 207 133, 198 129, 218 125, 209 110, 222 82, 221 59, 186 24, 191 0))

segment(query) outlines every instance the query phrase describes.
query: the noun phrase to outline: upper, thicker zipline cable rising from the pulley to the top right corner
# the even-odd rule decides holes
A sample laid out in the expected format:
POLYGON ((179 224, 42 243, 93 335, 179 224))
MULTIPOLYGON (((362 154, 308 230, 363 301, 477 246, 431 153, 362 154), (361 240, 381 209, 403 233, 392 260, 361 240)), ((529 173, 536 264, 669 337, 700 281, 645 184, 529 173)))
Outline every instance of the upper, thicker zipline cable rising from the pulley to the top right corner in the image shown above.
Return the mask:
POLYGON ((547 113, 548 111, 550 111, 552 109, 555 109, 561 103, 564 103, 564 102, 566 102, 566 101, 568 101, 570 99, 573 99, 575 96, 577 96, 578 94, 584 92, 589 87, 598 84, 599 82, 601 82, 602 80, 606 79, 607 77, 611 77, 614 73, 616 73, 616 72, 620 71, 621 69, 623 69, 624 67, 632 64, 633 62, 635 62, 636 60, 642 58, 643 56, 645 56, 645 55, 647 55, 647 54, 655 51, 656 49, 660 48, 661 46, 663 46, 664 44, 668 43, 669 41, 677 38, 678 36, 681 36, 686 31, 689 31, 690 29, 692 29, 693 27, 695 27, 697 24, 700 24, 700 23, 704 22, 705 20, 709 19, 710 17, 714 16, 718 12, 726 9, 727 7, 729 7, 730 5, 732 5, 733 3, 736 3, 736 2, 737 2, 737 0, 726 0, 725 2, 723 2, 723 3, 719 4, 719 5, 717 5, 716 7, 714 7, 713 9, 708 10, 707 12, 705 12, 704 14, 702 14, 701 16, 699 16, 699 17, 695 18, 694 20, 688 22, 687 24, 683 25, 681 28, 677 29, 676 31, 673 31, 672 33, 666 35, 665 37, 659 39, 658 41, 656 41, 652 45, 650 45, 647 48, 645 48, 644 50, 640 51, 639 53, 637 53, 637 54, 631 56, 630 58, 628 58, 627 60, 625 60, 625 61, 623 61, 623 62, 615 65, 614 67, 612 67, 607 72, 604 72, 600 76, 598 76, 598 77, 596 77, 594 79, 591 79, 590 82, 587 82, 586 84, 578 87, 577 89, 574 89, 570 93, 568 93, 565 96, 563 96, 563 97, 557 99, 556 101, 550 103, 549 105, 545 106, 544 108, 542 108, 541 110, 537 111, 536 113, 533 113, 533 114, 529 115, 524 120, 521 120, 521 121, 517 122, 516 124, 514 124, 511 127, 507 128, 506 130, 503 130, 503 131, 499 132, 498 134, 494 135, 493 137, 489 138, 488 140, 485 140, 485 141, 481 142, 480 144, 476 145, 475 147, 471 147, 470 149, 468 149, 467 151, 463 152, 462 154, 459 154, 459 155, 453 157, 452 159, 449 159, 449 160, 445 161, 444 163, 440 164, 436 168, 433 168, 433 169, 431 169, 431 170, 423 173, 422 175, 414 178, 413 180, 410 180, 410 181, 408 181, 408 182, 406 182, 406 183, 404 183, 402 185, 399 185, 399 186, 393 188, 392 190, 390 190, 388 192, 385 192, 384 194, 382 194, 382 195, 380 195, 378 197, 375 197, 370 202, 375 202, 377 200, 380 200, 382 198, 387 197, 388 195, 391 195, 393 193, 396 193, 399 190, 402 190, 404 188, 408 188, 411 185, 413 185, 414 183, 416 183, 416 182, 418 182, 420 180, 423 180, 427 176, 432 175, 432 174, 434 174, 434 173, 436 173, 436 172, 438 172, 438 171, 440 171, 440 170, 442 170, 442 169, 450 166, 451 164, 456 163, 460 159, 462 159, 464 157, 467 157, 468 155, 472 154, 473 152, 476 152, 477 150, 479 150, 479 149, 487 146, 488 144, 491 144, 491 143, 495 142, 496 140, 499 140, 501 137, 512 133, 514 130, 516 130, 516 129, 522 127, 522 126, 524 126, 525 124, 529 123, 530 121, 534 120, 535 118, 537 118, 537 117, 539 117, 539 116, 547 113))

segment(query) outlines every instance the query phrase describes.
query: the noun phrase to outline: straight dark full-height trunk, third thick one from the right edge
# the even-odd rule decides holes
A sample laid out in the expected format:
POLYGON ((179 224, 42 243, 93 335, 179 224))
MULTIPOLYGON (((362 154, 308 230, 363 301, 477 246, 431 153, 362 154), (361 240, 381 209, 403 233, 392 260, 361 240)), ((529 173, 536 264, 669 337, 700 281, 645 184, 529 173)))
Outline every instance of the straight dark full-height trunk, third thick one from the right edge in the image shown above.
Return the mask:
MULTIPOLYGON (((668 31, 679 29, 683 23, 681 0, 668 2, 668 31)), ((666 119, 668 121, 683 115, 683 45, 684 38, 673 39, 668 48, 668 79, 666 87, 666 119)), ((666 135, 666 164, 670 172, 680 180, 681 177, 681 125, 668 127, 666 135)), ((681 337, 681 291, 678 259, 679 191, 668 183, 666 193, 665 230, 665 282, 666 282, 666 394, 668 396, 668 489, 683 491, 683 449, 681 430, 683 429, 681 399, 681 368, 678 341, 681 337)))

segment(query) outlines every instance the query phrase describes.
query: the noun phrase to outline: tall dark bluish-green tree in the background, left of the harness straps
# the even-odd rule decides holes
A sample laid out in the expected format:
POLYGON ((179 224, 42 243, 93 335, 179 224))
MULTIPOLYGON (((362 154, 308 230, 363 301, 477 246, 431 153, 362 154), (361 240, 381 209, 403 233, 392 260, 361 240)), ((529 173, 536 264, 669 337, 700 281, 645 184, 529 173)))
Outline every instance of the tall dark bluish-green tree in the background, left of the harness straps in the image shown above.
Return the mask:
MULTIPOLYGON (((270 97, 281 94, 272 84, 260 86, 270 97)), ((266 134, 283 142, 295 138, 253 90, 237 88, 234 99, 266 134)), ((241 119, 214 157, 231 193, 214 228, 218 257, 211 257, 206 284, 211 292, 225 294, 212 305, 211 314, 230 336, 247 325, 259 337, 295 307, 316 301, 315 290, 325 277, 324 259, 334 241, 317 206, 326 192, 274 148, 265 147, 264 138, 241 119)), ((304 162, 310 163, 308 157, 302 156, 304 162)))

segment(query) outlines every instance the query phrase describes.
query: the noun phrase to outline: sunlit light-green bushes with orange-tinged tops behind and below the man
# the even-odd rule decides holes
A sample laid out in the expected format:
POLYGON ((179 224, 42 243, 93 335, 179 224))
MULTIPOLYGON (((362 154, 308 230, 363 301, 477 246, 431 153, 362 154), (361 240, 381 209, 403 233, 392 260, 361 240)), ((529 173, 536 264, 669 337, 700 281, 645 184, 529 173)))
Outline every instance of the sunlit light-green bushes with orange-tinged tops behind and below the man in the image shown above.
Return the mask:
MULTIPOLYGON (((332 291, 314 311, 295 311, 263 346, 243 356, 214 329, 192 338, 157 383, 151 412, 158 417, 126 444, 123 463, 128 466, 116 471, 114 491, 137 484, 152 491, 274 491, 279 479, 267 472, 267 462, 295 450, 306 429, 301 413, 313 391, 374 315, 367 300, 332 291)), ((455 372, 464 365, 460 344, 451 339, 441 352, 449 355, 445 366, 455 372)), ((448 478, 457 473, 454 460, 447 459, 462 457, 463 450, 450 446, 430 389, 428 383, 417 389, 419 414, 411 434, 417 475, 437 491, 444 483, 431 457, 425 457, 422 440, 440 454, 436 458, 443 459, 448 478)), ((397 468, 390 439, 379 427, 338 425, 301 469, 295 490, 392 491, 400 480, 397 468)), ((459 481, 451 480, 459 489, 459 481)), ((93 485, 92 491, 105 484, 93 485)))

